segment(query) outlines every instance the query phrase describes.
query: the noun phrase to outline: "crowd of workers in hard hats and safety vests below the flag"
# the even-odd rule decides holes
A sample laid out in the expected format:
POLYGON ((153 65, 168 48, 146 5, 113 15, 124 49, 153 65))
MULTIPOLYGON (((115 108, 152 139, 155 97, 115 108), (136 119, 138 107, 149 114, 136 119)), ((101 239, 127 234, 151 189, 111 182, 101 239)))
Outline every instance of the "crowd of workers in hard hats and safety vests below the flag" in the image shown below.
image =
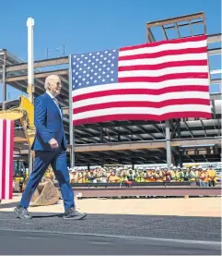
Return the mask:
POLYGON ((96 167, 90 170, 70 168, 70 181, 72 183, 125 183, 130 186, 132 182, 164 182, 164 181, 193 181, 201 187, 216 186, 216 171, 209 165, 192 167, 96 167))

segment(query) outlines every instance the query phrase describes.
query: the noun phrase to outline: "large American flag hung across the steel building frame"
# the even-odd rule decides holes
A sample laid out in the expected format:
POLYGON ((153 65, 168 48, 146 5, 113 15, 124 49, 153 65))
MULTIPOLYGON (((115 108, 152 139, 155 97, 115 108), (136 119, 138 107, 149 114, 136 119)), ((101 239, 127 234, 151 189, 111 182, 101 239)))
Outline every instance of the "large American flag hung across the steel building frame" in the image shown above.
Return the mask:
POLYGON ((211 118, 206 36, 71 55, 73 125, 211 118))

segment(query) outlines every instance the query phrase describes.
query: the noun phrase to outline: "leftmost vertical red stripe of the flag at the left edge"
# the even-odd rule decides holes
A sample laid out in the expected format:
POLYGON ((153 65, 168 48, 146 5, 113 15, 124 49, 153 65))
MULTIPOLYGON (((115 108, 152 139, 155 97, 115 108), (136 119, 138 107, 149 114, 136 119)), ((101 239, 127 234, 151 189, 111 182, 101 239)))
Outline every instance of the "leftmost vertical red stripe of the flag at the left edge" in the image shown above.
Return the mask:
POLYGON ((3 120, 2 199, 6 198, 6 120, 3 120))

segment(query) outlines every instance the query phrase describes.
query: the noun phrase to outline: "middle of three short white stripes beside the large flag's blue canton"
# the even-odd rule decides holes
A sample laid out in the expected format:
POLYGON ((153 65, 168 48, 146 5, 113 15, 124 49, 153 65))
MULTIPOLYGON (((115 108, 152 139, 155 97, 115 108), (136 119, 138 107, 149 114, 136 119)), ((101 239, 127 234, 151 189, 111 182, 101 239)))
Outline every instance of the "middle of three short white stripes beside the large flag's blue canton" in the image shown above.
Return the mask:
POLYGON ((144 58, 144 59, 132 59, 132 60, 119 60, 118 66, 134 66, 134 65, 155 65, 162 64, 171 61, 182 60, 201 60, 207 59, 207 54, 189 54, 189 55, 168 55, 157 58, 144 58))

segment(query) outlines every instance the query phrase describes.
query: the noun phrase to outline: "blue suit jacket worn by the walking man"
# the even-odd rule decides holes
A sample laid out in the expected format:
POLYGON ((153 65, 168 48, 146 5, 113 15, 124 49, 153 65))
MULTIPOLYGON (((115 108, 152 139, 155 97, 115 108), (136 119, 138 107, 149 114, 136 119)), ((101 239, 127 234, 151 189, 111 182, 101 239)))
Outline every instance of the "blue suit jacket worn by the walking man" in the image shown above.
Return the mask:
POLYGON ((61 117, 57 105, 46 92, 35 100, 34 124, 36 134, 31 146, 33 151, 54 151, 48 143, 53 138, 57 140, 59 147, 62 146, 64 150, 67 149, 63 116, 61 117))

